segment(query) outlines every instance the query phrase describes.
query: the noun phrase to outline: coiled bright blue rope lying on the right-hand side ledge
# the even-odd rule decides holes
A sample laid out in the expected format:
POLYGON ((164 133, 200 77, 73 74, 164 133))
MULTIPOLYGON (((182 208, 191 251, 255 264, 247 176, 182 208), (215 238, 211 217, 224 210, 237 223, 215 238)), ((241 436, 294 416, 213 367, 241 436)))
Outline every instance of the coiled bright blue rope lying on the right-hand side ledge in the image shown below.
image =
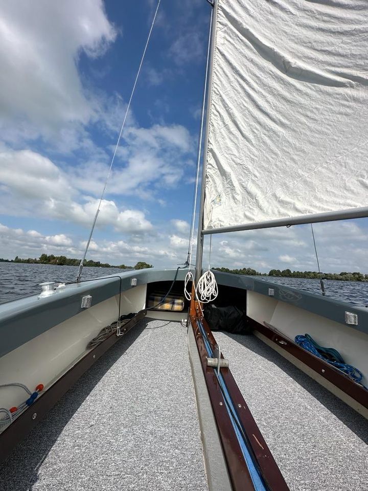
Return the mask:
MULTIPOLYGON (((309 334, 305 334, 305 336, 303 336, 302 334, 295 336, 295 343, 298 346, 301 346, 305 350, 309 351, 310 353, 314 354, 315 356, 318 356, 318 358, 324 360, 333 367, 338 368, 346 375, 348 375, 348 377, 351 378, 354 382, 361 384, 361 380, 363 378, 362 372, 352 365, 348 365, 347 363, 345 363, 341 354, 336 349, 324 348, 323 346, 319 346, 319 344, 317 344, 314 339, 309 336, 309 334)), ((366 387, 364 388, 366 389, 366 387)))

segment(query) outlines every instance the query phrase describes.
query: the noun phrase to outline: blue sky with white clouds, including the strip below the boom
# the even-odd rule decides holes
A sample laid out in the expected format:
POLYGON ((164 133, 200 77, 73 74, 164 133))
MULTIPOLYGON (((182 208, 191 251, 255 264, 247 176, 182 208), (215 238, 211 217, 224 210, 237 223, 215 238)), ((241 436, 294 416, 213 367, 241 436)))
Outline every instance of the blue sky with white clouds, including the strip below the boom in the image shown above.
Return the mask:
MULTIPOLYGON (((1 2, 0 257, 82 256, 156 5, 1 2)), ((187 259, 210 9, 160 4, 89 259, 187 259)), ((368 273, 366 219, 314 232, 322 271, 368 273)), ((310 226, 215 235, 211 265, 315 271, 310 226)))

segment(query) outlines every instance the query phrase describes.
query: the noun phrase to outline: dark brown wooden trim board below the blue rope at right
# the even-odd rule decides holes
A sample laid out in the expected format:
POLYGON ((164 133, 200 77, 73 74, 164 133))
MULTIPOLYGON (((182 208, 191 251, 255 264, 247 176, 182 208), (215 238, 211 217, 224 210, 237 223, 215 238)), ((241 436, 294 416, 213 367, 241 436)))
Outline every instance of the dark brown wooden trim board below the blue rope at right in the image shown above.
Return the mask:
POLYGON ((360 384, 357 384, 351 380, 351 378, 341 372, 341 370, 338 370, 324 360, 314 356, 309 351, 306 351, 301 346, 298 346, 293 340, 286 337, 281 332, 272 330, 270 327, 262 325, 254 319, 250 319, 250 317, 247 318, 247 322, 252 329, 255 329, 263 334, 263 336, 277 345, 278 348, 282 348, 292 356, 295 356, 295 358, 314 370, 316 373, 318 373, 318 375, 326 378, 326 380, 331 382, 344 393, 348 394, 364 408, 368 409, 367 391, 360 384))

